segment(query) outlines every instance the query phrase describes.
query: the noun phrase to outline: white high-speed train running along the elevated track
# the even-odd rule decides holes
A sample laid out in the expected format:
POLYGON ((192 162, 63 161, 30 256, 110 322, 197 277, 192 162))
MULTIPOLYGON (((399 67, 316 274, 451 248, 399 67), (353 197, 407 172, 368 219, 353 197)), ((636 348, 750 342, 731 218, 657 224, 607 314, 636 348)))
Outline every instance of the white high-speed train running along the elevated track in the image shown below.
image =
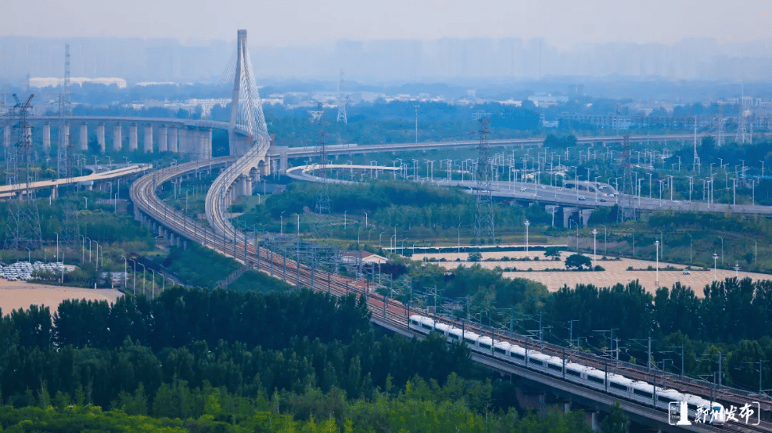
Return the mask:
POLYGON ((608 392, 608 394, 665 411, 678 410, 681 402, 686 401, 690 419, 698 416, 698 409, 708 411, 710 408, 707 417, 708 419, 712 418, 711 424, 721 425, 725 421, 723 404, 716 401, 711 402, 696 395, 685 394, 674 389, 655 388, 654 385, 645 381, 625 378, 621 374, 607 374, 597 368, 571 361, 564 363, 560 357, 543 354, 508 341, 492 340, 491 337, 463 331, 461 328, 434 321, 431 317, 414 314, 410 316, 409 327, 421 334, 438 332, 445 336, 449 342, 462 341, 466 343, 471 351, 493 356, 510 364, 541 371, 566 381, 582 384, 587 388, 608 392))

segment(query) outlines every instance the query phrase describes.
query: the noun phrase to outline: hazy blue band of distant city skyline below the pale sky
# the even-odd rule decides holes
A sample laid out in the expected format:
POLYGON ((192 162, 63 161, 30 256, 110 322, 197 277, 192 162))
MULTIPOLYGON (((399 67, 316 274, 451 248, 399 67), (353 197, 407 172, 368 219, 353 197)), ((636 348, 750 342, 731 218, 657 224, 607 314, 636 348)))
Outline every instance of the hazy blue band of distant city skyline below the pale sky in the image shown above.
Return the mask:
MULTIPOLYGON (((0 79, 63 75, 70 45, 72 76, 141 81, 218 82, 234 44, 212 40, 42 38, 0 36, 0 79)), ((454 79, 611 77, 769 82, 772 40, 720 44, 686 39, 674 45, 587 43, 560 50, 544 39, 341 39, 316 45, 267 47, 250 43, 259 79, 330 79, 344 69, 359 82, 442 82, 454 79)), ((337 82, 337 78, 334 78, 337 82)))

